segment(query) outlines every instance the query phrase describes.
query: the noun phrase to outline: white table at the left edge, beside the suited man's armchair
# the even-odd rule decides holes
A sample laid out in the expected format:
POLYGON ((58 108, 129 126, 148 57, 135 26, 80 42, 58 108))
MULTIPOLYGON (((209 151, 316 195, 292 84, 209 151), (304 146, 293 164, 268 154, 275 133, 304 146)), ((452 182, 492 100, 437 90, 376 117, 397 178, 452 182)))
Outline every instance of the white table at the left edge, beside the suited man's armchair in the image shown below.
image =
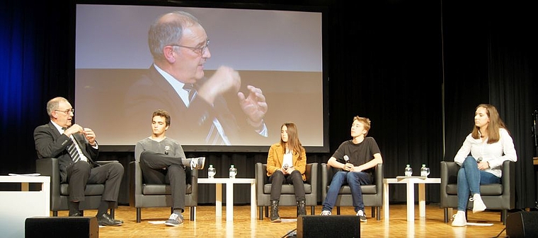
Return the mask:
POLYGON ((26 218, 50 216, 50 177, 0 176, 0 182, 21 184, 21 191, 0 191, 0 237, 24 237, 26 218), (28 191, 29 183, 40 183, 41 191, 28 191))

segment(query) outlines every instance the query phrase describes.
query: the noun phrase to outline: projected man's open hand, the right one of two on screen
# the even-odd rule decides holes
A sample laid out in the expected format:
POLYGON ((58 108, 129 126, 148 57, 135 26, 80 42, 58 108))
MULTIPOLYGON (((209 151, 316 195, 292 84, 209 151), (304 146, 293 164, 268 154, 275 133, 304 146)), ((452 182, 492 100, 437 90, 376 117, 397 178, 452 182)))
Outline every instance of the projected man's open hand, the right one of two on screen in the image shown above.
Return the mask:
POLYGON ((265 117, 265 113, 267 113, 267 102, 265 102, 265 96, 260 88, 252 85, 248 85, 246 88, 249 91, 248 97, 245 97, 244 93, 237 93, 239 105, 246 114, 248 124, 254 128, 258 128, 262 126, 263 118, 265 117))

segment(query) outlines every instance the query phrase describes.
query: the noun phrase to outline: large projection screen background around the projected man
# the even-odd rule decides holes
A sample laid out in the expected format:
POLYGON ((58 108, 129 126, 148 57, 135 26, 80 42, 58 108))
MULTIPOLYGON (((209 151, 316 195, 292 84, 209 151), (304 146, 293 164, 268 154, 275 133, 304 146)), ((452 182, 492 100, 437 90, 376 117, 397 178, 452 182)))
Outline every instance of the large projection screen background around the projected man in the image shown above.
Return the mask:
MULTIPOLYGON (((234 131, 241 134, 229 145, 195 140, 197 131, 176 130, 188 120, 185 114, 171 114, 166 136, 187 151, 267 151, 280 141, 280 126, 292 121, 307 151, 328 151, 326 23, 324 11, 317 10, 76 4, 74 123, 96 131, 105 150, 133 150, 137 141, 151 135, 154 110, 174 111, 141 100, 135 107, 142 113, 126 113, 126 107, 133 107, 129 92, 154 62, 149 26, 172 11, 193 14, 207 32, 211 57, 204 65, 205 76, 219 66, 235 69, 241 77, 239 91, 247 94, 246 85, 260 88, 268 110, 265 135, 234 131)), ((134 91, 154 89, 147 87, 154 85, 137 85, 134 91)), ((245 120, 236 93, 223 97, 235 119, 245 120)))

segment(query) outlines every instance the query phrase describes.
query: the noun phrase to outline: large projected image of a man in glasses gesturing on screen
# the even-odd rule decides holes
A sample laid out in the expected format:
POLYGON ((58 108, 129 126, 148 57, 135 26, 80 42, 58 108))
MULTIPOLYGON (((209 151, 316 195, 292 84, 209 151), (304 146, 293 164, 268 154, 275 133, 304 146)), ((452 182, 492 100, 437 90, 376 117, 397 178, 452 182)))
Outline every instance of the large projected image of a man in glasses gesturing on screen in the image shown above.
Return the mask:
POLYGON ((263 120, 268 104, 260 88, 246 85, 241 92, 241 77, 228 66, 205 77, 210 40, 195 16, 185 11, 159 16, 148 44, 154 63, 128 88, 125 118, 166 109, 177 120, 174 134, 198 144, 234 145, 252 135, 268 136, 263 120))

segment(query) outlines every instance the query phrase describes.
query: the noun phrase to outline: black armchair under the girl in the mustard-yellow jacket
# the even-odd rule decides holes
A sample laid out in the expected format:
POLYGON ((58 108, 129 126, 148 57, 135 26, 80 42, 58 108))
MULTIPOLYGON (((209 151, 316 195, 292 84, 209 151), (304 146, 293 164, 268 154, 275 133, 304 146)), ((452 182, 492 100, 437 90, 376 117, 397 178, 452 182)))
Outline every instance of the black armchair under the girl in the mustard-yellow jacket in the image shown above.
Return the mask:
MULTIPOLYGON (((256 199, 260 210, 259 215, 260 220, 263 220, 263 208, 265 207, 265 217, 267 218, 269 216, 269 207, 271 206, 271 184, 267 176, 267 165, 257 162, 254 174, 254 177, 256 177, 256 199)), ((307 181, 304 182, 304 194, 307 198, 305 205, 310 206, 310 213, 314 215, 318 205, 318 163, 307 164, 307 171, 304 174, 307 177, 307 181)), ((282 184, 279 206, 297 206, 293 184, 282 184)))

